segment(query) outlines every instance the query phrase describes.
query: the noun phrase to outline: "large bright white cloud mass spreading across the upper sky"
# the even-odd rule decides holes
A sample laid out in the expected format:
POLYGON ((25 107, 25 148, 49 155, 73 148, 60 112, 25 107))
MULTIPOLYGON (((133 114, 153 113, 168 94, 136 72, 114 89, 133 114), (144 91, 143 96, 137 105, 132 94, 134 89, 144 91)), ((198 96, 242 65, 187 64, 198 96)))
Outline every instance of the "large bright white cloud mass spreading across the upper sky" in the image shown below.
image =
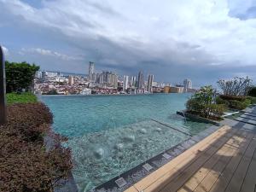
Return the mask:
POLYGON ((251 54, 256 49, 256 20, 230 17, 228 0, 55 0, 43 1, 41 9, 19 0, 1 1, 11 14, 60 30, 68 37, 104 37, 159 57, 185 42, 200 46, 222 63, 253 65, 256 61, 256 55, 251 54))

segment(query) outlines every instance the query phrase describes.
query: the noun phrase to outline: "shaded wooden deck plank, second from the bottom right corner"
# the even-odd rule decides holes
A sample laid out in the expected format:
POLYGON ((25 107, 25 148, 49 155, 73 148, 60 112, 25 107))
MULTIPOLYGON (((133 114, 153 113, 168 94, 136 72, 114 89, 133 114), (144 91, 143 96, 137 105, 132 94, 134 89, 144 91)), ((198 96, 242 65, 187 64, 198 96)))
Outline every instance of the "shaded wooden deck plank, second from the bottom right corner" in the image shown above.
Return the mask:
POLYGON ((247 168, 250 165, 250 162, 253 158, 253 153, 255 151, 255 148, 256 148, 256 140, 252 140, 249 147, 247 148, 246 153, 241 158, 241 162, 237 166, 236 172, 234 172, 234 175, 231 178, 230 183, 228 184, 225 191, 227 192, 240 191, 241 184, 247 173, 247 168))

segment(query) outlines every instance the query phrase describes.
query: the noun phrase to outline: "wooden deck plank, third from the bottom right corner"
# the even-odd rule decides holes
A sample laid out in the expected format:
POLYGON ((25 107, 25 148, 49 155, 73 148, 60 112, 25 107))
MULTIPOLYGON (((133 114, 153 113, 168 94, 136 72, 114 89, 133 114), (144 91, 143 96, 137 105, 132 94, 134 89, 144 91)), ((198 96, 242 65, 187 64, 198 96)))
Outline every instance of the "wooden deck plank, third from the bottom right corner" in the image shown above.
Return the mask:
POLYGON ((225 167, 224 172, 221 173, 221 175, 218 177, 218 180, 213 184, 210 192, 222 192, 230 182, 230 179, 233 176, 233 173, 236 172, 236 167, 239 165, 243 154, 245 154, 247 147, 252 142, 253 134, 248 134, 249 135, 247 137, 246 143, 241 146, 236 154, 234 154, 229 164, 225 167))

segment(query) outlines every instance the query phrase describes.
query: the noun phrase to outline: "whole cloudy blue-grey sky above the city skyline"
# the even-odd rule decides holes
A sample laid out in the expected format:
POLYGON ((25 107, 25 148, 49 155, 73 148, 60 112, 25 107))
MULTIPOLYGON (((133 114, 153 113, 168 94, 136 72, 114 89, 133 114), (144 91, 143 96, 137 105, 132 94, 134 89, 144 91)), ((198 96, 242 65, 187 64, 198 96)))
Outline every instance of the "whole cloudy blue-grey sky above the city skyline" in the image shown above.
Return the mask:
POLYGON ((120 75, 195 86, 256 82, 255 0, 0 0, 0 44, 9 61, 41 69, 120 75))

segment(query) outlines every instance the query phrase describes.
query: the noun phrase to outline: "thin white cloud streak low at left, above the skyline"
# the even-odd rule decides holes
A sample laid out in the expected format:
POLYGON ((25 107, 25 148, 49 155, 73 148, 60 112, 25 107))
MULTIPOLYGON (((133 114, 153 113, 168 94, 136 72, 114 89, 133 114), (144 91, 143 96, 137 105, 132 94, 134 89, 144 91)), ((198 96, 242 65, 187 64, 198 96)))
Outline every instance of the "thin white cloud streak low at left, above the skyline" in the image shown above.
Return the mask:
POLYGON ((66 55, 62 54, 53 50, 49 49, 41 49, 41 48, 30 48, 30 49, 25 49, 22 48, 20 50, 20 55, 25 55, 26 54, 39 54, 39 55, 44 55, 44 56, 54 56, 56 58, 59 58, 61 60, 66 60, 66 61, 72 61, 72 60, 82 60, 83 58, 80 56, 72 56, 72 55, 66 55))

